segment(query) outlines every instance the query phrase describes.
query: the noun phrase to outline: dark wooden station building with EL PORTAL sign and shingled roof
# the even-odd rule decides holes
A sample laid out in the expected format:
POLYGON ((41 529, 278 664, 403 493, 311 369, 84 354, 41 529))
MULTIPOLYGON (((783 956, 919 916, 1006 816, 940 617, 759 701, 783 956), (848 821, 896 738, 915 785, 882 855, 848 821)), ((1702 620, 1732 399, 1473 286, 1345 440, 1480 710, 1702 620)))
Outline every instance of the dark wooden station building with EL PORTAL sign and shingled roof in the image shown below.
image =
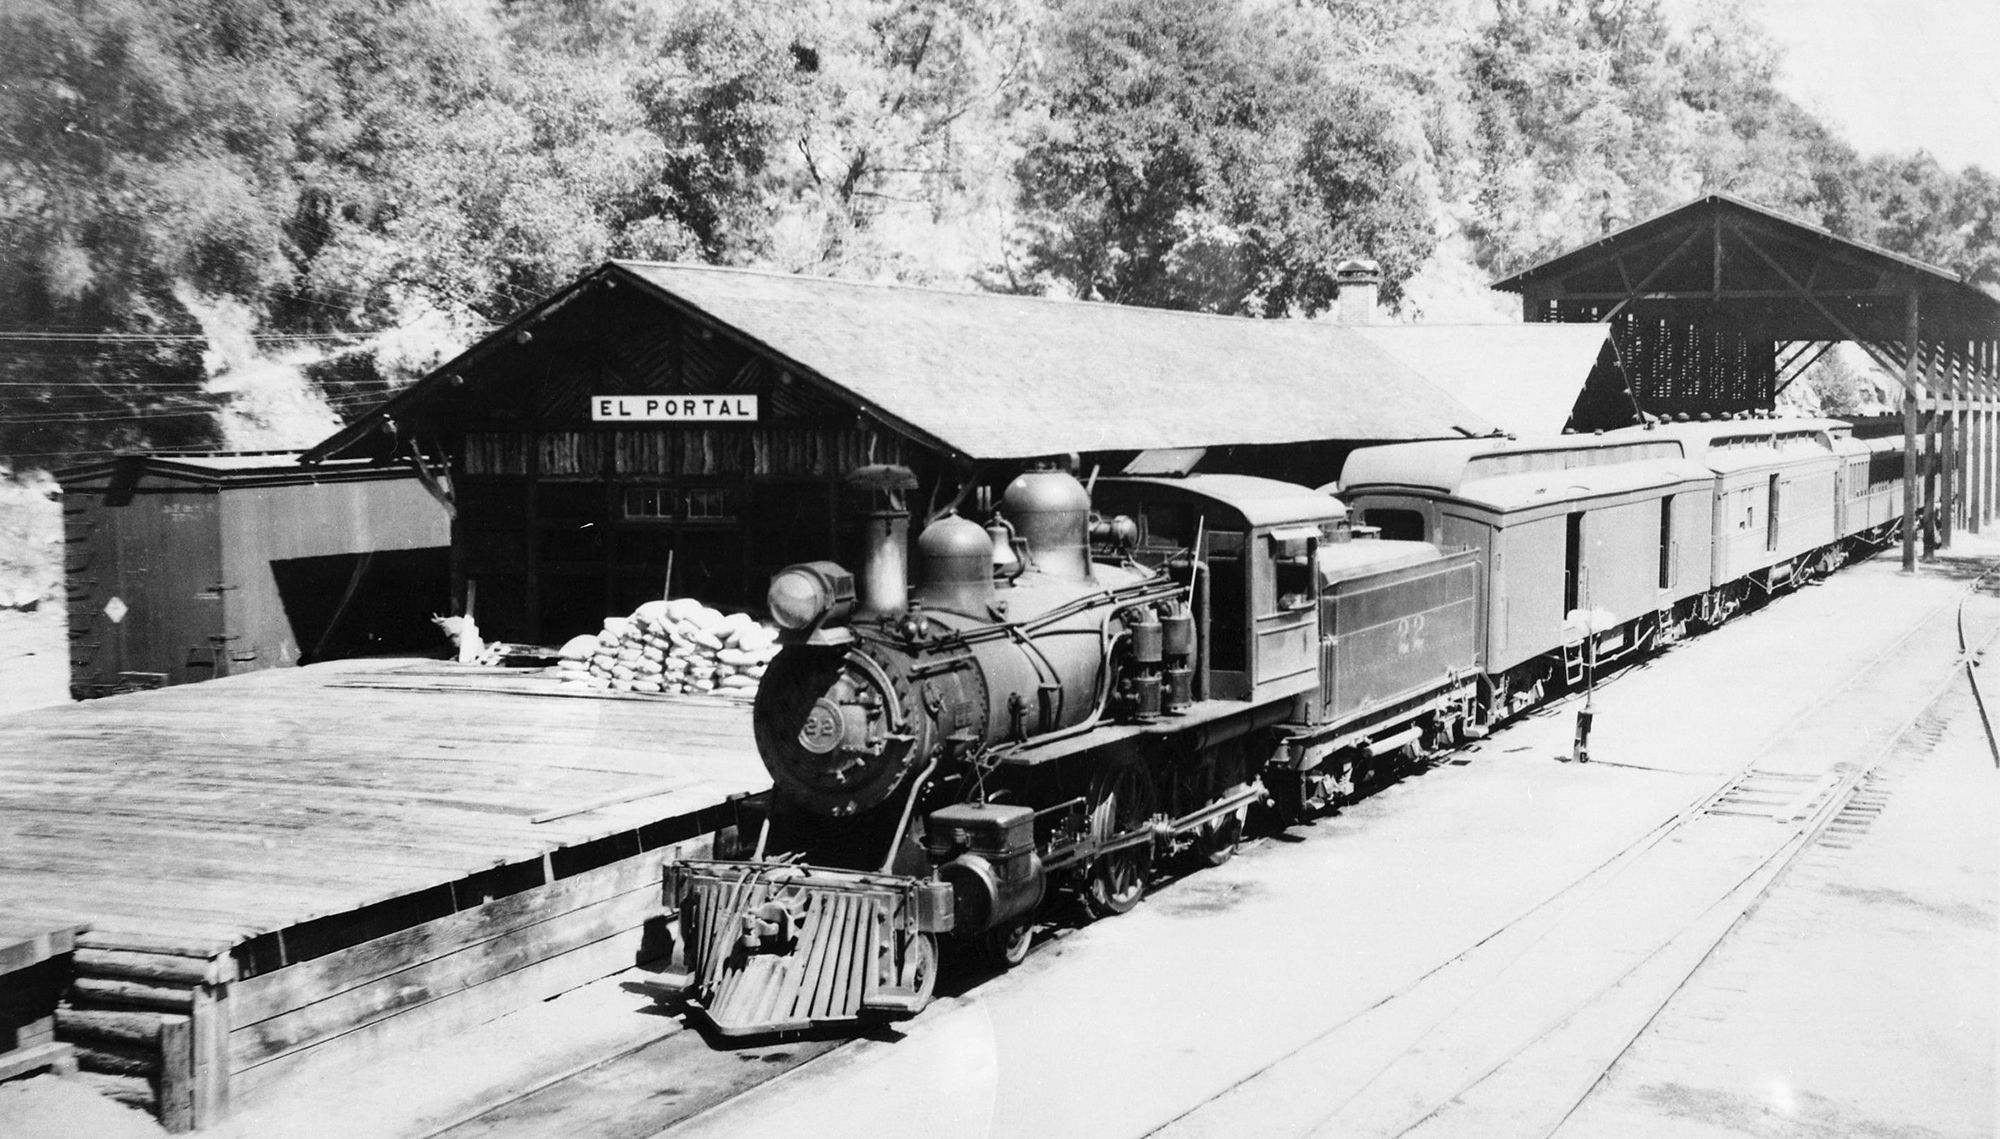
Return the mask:
MULTIPOLYGON (((1602 350, 1538 340, 1570 392, 1602 350)), ((760 603, 842 554, 864 464, 912 468, 928 512, 1042 456, 1234 448, 1316 486, 1360 442, 1504 426, 1404 356, 1332 322, 608 262, 304 460, 420 464, 482 631, 550 643, 664 591, 760 603)))

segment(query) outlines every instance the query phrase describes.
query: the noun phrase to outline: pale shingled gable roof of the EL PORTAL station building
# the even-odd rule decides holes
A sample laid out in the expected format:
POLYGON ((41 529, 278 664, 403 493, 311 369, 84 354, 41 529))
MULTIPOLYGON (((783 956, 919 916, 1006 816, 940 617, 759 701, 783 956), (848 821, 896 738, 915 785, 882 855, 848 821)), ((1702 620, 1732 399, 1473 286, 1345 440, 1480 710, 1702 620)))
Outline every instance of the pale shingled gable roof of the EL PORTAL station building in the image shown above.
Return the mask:
MULTIPOLYGON (((966 460, 1496 430, 1392 352, 1328 322, 656 262, 608 262, 538 310, 574 302, 600 278, 628 280, 966 460)), ((306 462, 350 450, 392 414, 420 418, 430 390, 532 322, 530 312, 496 332, 306 462)), ((1580 380, 1566 378, 1572 390, 1580 380)))

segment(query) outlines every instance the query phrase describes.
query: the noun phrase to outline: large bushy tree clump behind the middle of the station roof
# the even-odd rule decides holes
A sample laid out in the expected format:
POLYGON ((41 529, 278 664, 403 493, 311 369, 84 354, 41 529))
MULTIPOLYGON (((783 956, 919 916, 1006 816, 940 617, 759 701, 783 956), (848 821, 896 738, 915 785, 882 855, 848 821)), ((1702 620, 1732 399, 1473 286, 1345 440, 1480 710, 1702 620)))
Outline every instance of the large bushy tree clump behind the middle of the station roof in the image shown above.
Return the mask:
POLYGON ((1400 282, 1430 248, 1418 156, 1338 76, 1324 14, 1280 4, 1056 6, 1046 118, 1018 180, 1018 286, 1278 316, 1332 300, 1370 254, 1400 282))

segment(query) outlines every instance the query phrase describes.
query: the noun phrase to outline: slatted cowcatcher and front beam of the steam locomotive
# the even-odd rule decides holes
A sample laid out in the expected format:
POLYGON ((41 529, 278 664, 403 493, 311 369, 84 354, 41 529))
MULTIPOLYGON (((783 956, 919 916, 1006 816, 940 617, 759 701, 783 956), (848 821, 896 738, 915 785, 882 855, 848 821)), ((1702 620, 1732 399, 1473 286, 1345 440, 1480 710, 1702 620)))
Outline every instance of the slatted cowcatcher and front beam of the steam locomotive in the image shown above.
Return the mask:
POLYGON ((682 861, 674 973, 648 985, 726 1037, 806 1031, 930 1003, 950 887, 796 863, 682 861))

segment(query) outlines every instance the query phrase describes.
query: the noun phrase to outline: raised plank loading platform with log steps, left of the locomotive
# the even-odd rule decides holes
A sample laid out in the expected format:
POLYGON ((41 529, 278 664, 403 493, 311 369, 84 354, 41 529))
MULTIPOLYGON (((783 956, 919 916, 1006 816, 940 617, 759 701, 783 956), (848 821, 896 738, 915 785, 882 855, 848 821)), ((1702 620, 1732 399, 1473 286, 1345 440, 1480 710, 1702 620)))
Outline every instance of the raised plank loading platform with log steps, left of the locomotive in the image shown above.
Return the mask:
POLYGON ((186 1129, 636 963, 660 863, 766 785, 746 703, 444 661, 26 711, 0 717, 0 925, 90 927, 58 1037, 186 1129))

